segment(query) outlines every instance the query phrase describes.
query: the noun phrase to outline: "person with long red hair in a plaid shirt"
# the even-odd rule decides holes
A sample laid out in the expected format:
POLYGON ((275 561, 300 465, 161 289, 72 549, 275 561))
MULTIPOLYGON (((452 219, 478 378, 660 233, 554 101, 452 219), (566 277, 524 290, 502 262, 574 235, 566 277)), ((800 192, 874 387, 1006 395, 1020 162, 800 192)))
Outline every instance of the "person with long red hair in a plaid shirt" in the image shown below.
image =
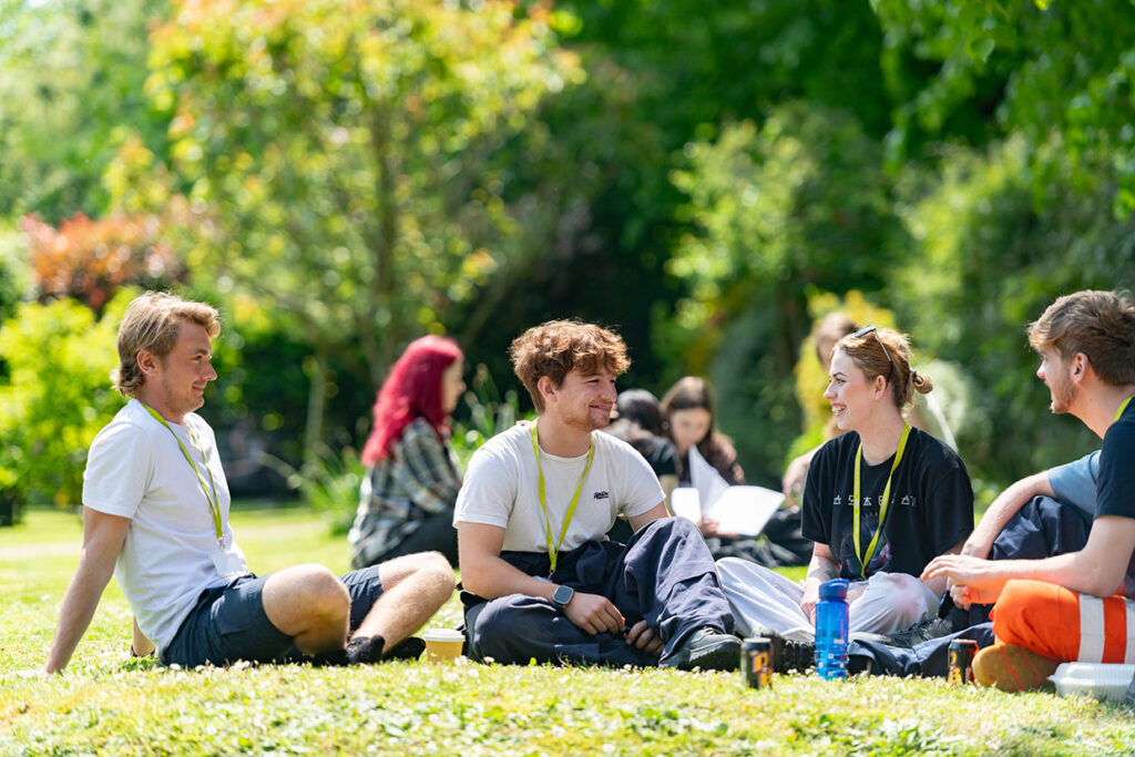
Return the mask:
POLYGON ((423 336, 402 353, 375 402, 375 428, 359 512, 347 535, 356 569, 401 555, 439 552, 457 563, 453 506, 461 469, 449 447, 449 415, 465 390, 453 339, 423 336))

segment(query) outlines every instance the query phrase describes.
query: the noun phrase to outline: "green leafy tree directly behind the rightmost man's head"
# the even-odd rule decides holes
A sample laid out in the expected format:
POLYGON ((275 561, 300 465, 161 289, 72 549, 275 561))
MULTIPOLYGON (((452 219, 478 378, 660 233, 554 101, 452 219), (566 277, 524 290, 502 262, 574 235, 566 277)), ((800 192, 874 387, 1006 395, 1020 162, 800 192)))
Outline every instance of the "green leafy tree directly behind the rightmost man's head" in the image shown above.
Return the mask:
POLYGON ((1099 444, 1074 419, 1049 418, 1027 323, 1060 294, 1135 281, 1135 219, 1117 222, 1108 193, 1084 196, 1084 167, 1067 154, 1045 166, 1051 201, 1039 207, 1035 160, 1023 136, 984 152, 955 148, 931 190, 899 205, 913 239, 892 278, 899 322, 975 379, 991 426, 962 452, 977 473, 1001 480, 1099 444))

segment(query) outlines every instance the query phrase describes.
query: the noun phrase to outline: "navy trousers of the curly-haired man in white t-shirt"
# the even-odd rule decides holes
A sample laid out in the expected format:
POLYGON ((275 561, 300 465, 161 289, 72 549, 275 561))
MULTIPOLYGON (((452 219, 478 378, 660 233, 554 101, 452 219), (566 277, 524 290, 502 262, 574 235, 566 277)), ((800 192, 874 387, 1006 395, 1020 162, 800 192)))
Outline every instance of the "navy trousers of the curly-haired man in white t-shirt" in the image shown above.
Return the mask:
MULTIPOLYGON (((546 554, 505 552, 501 557, 529 575, 547 575, 546 554)), ((627 546, 588 541, 561 553, 554 583, 599 594, 623 614, 627 628, 645 620, 665 642, 650 655, 609 632, 591 636, 547 599, 507 595, 485 600, 463 591, 468 655, 498 663, 591 663, 653 666, 674 654, 696 630, 733 631, 733 614, 721 591, 714 561, 698 528, 681 518, 646 525, 627 546)))

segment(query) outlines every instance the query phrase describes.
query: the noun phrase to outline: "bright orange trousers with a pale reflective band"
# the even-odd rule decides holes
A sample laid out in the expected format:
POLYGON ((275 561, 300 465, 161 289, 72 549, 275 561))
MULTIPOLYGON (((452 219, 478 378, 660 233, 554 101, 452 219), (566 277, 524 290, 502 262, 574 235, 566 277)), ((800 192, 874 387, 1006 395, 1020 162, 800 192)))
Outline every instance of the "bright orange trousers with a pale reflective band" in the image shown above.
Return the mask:
POLYGON ((1135 602, 1078 594, 1044 581, 1009 581, 993 607, 993 633, 1061 662, 1135 663, 1135 602))

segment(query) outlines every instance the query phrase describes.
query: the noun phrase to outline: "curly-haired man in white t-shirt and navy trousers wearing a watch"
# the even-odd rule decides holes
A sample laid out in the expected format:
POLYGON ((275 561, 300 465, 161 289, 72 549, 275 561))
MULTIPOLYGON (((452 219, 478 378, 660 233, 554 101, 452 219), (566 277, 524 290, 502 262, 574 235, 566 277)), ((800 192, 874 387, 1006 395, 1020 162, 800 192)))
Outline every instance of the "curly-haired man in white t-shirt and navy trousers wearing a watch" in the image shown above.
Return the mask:
POLYGON ((740 640, 698 528, 669 518, 611 420, 623 340, 549 321, 518 337, 516 376, 535 423, 477 451, 457 497, 469 651, 474 659, 735 670, 740 640), (634 536, 606 541, 620 514, 634 536))

